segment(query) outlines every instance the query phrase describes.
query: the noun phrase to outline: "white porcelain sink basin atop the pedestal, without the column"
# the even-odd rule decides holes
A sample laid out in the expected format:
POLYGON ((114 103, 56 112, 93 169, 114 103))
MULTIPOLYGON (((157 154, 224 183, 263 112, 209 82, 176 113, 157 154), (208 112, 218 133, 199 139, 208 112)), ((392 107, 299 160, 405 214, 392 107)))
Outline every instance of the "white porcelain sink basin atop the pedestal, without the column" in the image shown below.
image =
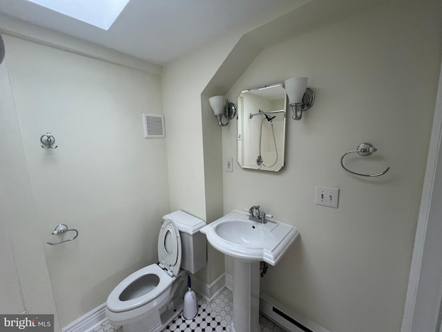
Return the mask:
POLYGON ((247 212, 233 210, 222 218, 204 226, 213 248, 225 255, 247 261, 265 261, 276 265, 299 236, 291 225, 268 219, 261 224, 249 220, 247 212))

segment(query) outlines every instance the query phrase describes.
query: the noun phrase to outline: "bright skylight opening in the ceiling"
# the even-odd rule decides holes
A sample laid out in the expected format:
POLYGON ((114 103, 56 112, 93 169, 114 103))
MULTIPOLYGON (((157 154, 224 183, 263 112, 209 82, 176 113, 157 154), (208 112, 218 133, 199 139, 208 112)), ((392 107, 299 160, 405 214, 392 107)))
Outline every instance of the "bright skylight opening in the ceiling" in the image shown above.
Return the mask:
POLYGON ((108 30, 129 0, 28 0, 108 30))

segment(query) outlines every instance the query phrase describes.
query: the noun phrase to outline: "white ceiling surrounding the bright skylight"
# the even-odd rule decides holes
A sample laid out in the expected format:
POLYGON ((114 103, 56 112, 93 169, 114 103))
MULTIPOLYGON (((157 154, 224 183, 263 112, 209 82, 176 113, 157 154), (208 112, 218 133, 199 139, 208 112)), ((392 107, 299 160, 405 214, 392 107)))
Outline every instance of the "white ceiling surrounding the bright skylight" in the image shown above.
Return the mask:
POLYGON ((306 1, 131 0, 108 31, 26 0, 0 0, 0 12, 162 65, 302 2, 306 1))

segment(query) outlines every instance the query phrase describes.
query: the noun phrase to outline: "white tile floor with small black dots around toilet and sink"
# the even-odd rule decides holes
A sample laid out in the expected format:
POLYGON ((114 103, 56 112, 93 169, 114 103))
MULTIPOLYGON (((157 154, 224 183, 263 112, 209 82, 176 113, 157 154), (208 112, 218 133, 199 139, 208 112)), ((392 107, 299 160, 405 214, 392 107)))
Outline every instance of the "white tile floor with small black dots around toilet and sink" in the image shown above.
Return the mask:
MULTIPOLYGON (((198 314, 196 317, 193 320, 186 320, 180 314, 163 332, 231 332, 232 298, 232 292, 228 288, 224 288, 211 302, 206 302, 197 294, 198 314)), ((262 315, 260 315, 260 328, 261 332, 285 332, 280 326, 262 315)), ((122 327, 106 321, 93 329, 93 332, 122 332, 122 327)))

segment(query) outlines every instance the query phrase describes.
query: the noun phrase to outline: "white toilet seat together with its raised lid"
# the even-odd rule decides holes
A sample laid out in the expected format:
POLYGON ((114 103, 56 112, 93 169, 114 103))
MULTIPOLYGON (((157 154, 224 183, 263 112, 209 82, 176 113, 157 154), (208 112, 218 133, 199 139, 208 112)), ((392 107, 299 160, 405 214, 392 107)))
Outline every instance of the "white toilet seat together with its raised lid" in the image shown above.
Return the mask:
POLYGON ((122 313, 149 302, 155 306, 155 299, 170 291, 181 265, 180 232, 171 220, 164 221, 158 235, 158 261, 158 265, 141 268, 120 282, 108 296, 108 310, 122 313))

